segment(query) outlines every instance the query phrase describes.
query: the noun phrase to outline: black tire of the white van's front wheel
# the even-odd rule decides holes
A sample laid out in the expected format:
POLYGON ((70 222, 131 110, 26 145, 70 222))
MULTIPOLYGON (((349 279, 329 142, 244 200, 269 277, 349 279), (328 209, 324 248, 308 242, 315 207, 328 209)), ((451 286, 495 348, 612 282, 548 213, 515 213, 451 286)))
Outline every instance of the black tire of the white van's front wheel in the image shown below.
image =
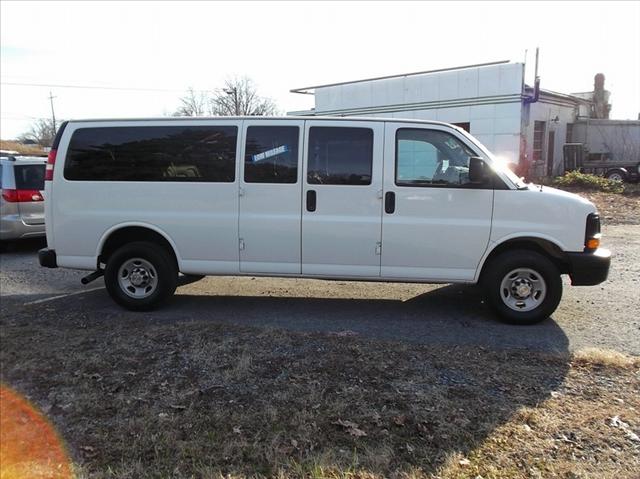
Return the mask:
MULTIPOLYGON (((528 278, 524 278, 527 281, 528 278)), ((500 319, 511 324, 535 324, 545 320, 556 310, 560 300, 562 299, 562 278, 560 271, 553 262, 546 256, 529 250, 513 250, 506 251, 491 259, 484 266, 481 279, 482 287, 489 304, 498 313, 500 319), (519 301, 514 296, 514 288, 517 281, 522 281, 518 274, 509 276, 518 269, 530 270, 534 275, 529 275, 537 284, 543 284, 545 294, 539 296, 540 303, 530 310, 515 310, 507 305, 508 301, 524 304, 525 301, 519 301), (540 283, 542 277, 543 283, 540 283), (515 279, 512 279, 515 278, 515 279), (510 288, 502 288, 503 280, 511 285, 510 288), (505 298, 505 299, 503 299, 505 298)), ((537 300, 533 299, 532 303, 537 300)), ((527 306, 519 306, 526 308, 527 306)))

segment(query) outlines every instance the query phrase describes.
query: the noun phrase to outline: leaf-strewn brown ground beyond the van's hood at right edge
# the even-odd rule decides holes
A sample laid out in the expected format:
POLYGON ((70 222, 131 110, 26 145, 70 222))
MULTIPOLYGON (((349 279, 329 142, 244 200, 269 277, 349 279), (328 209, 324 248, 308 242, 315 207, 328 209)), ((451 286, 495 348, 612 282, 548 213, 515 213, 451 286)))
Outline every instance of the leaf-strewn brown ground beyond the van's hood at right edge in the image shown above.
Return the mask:
POLYGON ((625 194, 603 193, 579 188, 562 188, 585 197, 598 208, 602 223, 606 225, 640 224, 640 189, 630 185, 625 194))

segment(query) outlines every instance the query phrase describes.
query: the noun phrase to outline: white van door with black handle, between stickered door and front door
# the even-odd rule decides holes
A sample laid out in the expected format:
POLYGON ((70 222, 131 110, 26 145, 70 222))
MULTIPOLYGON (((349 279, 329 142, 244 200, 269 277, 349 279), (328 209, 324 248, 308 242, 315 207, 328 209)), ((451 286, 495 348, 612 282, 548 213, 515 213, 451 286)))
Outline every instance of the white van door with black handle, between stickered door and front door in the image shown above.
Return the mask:
POLYGON ((380 276, 384 123, 307 120, 302 274, 380 276))

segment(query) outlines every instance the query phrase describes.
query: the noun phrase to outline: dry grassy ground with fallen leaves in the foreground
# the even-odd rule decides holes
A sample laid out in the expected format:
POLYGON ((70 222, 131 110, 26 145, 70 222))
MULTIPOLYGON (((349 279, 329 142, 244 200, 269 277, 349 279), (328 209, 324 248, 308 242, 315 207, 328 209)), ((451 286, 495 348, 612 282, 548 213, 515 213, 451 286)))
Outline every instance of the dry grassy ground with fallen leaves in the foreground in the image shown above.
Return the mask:
POLYGON ((636 358, 151 318, 2 311, 2 380, 53 421, 81 477, 631 478, 640 467, 636 358))

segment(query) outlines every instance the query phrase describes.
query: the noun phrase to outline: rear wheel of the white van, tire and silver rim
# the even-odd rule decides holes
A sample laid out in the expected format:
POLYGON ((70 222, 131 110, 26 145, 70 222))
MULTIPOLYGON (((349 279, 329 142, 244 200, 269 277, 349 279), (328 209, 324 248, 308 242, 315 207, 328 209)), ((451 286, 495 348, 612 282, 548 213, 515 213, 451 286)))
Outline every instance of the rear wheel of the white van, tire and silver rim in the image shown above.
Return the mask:
POLYGON ((119 305, 132 311, 149 311, 175 292, 178 270, 162 247, 138 241, 111 255, 104 281, 109 295, 119 305))

